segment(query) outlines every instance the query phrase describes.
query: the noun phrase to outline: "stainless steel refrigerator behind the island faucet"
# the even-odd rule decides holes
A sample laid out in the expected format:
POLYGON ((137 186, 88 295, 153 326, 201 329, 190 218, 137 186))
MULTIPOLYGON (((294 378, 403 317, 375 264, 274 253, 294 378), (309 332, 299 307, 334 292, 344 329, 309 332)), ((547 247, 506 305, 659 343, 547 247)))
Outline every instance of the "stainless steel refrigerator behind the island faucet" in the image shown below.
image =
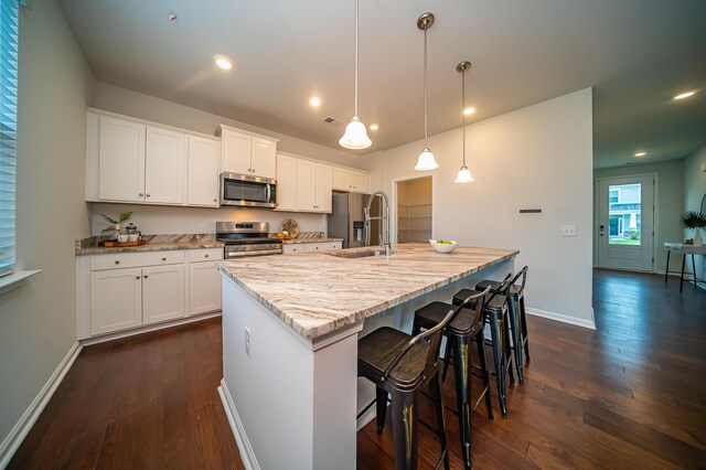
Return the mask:
MULTIPOLYGON (((333 194, 333 211, 329 215, 329 236, 343 238, 343 248, 356 248, 365 245, 365 217, 363 207, 370 194, 333 194)), ((381 213, 379 197, 373 201, 371 216, 381 213)), ((379 245, 379 221, 371 223, 371 246, 379 245)))

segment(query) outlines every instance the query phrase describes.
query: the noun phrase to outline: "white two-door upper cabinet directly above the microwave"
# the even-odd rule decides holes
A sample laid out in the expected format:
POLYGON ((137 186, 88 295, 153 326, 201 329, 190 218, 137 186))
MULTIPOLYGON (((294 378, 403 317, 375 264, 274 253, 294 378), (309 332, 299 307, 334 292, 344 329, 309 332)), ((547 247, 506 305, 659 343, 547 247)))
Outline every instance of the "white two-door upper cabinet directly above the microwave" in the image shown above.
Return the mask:
POLYGON ((221 170, 254 177, 277 178, 277 139, 218 126, 221 170))

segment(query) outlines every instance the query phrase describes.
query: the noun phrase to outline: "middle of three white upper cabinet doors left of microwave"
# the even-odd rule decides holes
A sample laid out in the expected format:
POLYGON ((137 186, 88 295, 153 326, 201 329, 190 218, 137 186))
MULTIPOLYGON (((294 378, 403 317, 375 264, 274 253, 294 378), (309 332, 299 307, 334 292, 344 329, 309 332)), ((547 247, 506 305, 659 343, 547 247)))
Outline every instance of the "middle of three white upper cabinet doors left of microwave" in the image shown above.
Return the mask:
POLYGON ((184 203, 184 139, 181 132, 147 128, 145 202, 184 203))

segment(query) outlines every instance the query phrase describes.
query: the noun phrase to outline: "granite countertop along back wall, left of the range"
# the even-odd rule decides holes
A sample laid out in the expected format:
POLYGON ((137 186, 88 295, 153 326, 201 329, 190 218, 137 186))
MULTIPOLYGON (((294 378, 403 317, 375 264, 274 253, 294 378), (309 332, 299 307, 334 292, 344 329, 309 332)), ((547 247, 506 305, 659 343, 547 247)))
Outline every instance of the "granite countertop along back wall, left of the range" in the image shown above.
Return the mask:
POLYGON ((173 249, 201 249, 223 248, 222 242, 216 242, 214 235, 147 235, 145 245, 105 247, 98 246, 98 237, 89 237, 76 241, 76 256, 107 255, 110 253, 141 253, 141 252, 168 252, 173 249))

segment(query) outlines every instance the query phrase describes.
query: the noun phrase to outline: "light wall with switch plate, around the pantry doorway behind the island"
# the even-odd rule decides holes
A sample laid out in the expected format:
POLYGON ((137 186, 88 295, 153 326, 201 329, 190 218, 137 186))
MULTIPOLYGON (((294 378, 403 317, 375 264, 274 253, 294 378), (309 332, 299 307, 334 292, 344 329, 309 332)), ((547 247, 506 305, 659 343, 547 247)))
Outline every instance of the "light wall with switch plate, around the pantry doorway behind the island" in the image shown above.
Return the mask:
MULTIPOLYGON (((527 308, 592 327, 591 89, 469 125, 467 160, 475 181, 468 184, 453 183, 461 138, 459 128, 429 139, 439 163, 431 172, 434 237, 520 249, 515 266, 530 265, 527 308), (578 236, 563 237, 563 224, 577 225, 578 236)), ((373 161, 373 183, 392 195, 393 181, 418 177, 422 147, 417 141, 383 152, 373 161)))

